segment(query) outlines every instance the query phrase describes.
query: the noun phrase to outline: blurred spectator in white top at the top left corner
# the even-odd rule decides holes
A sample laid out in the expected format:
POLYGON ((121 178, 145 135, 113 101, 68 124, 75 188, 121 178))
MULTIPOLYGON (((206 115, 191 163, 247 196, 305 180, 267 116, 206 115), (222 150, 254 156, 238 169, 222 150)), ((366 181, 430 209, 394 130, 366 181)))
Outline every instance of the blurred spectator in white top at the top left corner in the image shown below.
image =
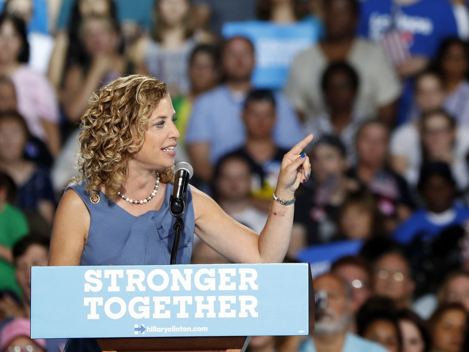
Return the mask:
MULTIPOLYGON (((29 66, 45 75, 54 48, 54 38, 47 32, 31 28, 33 13, 35 12, 34 6, 37 5, 37 2, 34 0, 6 0, 2 13, 16 15, 24 21, 29 43, 29 66)), ((43 18, 43 20, 46 21, 47 18, 43 18)))

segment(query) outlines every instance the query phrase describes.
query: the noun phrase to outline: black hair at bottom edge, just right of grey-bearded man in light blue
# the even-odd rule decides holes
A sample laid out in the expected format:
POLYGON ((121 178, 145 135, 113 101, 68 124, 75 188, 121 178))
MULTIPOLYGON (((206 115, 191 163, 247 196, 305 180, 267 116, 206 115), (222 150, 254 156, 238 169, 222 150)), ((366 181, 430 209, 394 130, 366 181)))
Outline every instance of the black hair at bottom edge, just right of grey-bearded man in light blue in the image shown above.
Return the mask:
POLYGON ((357 312, 356 326, 358 335, 365 334, 368 327, 378 320, 390 322, 396 329, 399 351, 402 351, 402 334, 396 314, 394 301, 388 297, 375 296, 369 298, 357 312))

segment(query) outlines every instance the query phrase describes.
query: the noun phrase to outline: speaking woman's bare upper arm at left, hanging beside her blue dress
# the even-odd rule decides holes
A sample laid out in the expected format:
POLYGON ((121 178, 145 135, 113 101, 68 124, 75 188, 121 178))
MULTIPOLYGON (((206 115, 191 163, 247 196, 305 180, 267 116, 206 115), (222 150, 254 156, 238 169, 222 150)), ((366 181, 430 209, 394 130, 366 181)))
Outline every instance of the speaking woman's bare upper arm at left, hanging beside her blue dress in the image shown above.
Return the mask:
POLYGON ((48 265, 80 265, 89 226, 88 208, 78 194, 69 189, 55 213, 48 265))

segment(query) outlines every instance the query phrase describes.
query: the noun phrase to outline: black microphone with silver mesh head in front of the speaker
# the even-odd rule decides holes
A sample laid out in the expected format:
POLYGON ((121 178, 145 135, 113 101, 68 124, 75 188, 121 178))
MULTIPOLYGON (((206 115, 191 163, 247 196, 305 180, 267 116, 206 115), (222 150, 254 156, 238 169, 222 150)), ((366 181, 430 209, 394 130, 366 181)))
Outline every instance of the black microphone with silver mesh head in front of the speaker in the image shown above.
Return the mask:
POLYGON ((169 212, 177 218, 186 211, 187 185, 192 175, 194 175, 194 169, 184 161, 174 168, 174 187, 169 201, 169 212))

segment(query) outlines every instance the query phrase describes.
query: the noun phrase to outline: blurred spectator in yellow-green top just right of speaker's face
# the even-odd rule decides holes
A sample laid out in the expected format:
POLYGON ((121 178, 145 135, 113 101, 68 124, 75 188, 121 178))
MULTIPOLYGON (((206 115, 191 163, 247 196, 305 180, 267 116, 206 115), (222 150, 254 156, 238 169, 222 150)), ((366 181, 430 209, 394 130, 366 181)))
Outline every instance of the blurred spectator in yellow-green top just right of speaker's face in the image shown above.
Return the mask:
MULTIPOLYGON (((198 44, 189 56, 188 94, 172 96, 174 110, 178 119, 175 124, 179 130, 178 146, 186 154, 186 130, 191 116, 192 104, 202 93, 215 88, 222 76, 220 67, 220 49, 212 44, 198 44)), ((178 152, 176 153, 178 157, 178 152)), ((181 160, 187 158, 179 156, 181 160)))

